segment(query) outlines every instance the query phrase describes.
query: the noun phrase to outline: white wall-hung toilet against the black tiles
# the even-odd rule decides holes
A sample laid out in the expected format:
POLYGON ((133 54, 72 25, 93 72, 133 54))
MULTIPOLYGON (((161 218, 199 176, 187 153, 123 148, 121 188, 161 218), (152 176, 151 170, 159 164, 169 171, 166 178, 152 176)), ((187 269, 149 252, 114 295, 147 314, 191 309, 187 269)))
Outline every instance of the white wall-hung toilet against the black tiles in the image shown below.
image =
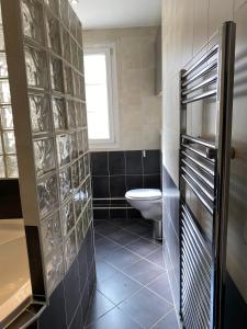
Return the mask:
POLYGON ((162 239, 162 193, 157 189, 136 189, 125 193, 127 202, 146 219, 154 220, 154 237, 162 239))

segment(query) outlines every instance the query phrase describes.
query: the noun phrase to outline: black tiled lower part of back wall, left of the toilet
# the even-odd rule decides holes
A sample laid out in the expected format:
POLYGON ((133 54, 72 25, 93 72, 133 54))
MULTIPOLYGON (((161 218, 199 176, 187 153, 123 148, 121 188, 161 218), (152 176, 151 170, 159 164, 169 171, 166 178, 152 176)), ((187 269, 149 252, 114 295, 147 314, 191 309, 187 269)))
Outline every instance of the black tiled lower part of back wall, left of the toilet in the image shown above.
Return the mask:
POLYGON ((133 189, 160 189, 160 151, 91 152, 94 218, 141 217, 124 195, 133 189))

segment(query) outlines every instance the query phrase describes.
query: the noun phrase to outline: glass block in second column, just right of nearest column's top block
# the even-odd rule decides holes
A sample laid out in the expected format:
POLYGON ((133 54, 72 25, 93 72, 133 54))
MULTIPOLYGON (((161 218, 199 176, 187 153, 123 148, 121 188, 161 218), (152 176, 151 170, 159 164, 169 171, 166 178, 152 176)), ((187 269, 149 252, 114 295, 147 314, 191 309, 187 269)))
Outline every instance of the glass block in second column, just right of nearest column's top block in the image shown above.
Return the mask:
POLYGON ((48 11, 46 12, 46 31, 48 47, 53 49, 57 55, 61 54, 60 47, 60 30, 58 20, 52 15, 48 11))

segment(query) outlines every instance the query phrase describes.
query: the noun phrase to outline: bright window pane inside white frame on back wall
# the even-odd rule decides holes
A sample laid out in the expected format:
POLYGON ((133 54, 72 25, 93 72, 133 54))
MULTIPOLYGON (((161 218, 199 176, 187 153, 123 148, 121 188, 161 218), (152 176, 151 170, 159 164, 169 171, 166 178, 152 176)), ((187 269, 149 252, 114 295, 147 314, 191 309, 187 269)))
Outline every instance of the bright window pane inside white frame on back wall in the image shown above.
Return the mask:
POLYGON ((85 55, 89 139, 110 139, 105 54, 85 55))

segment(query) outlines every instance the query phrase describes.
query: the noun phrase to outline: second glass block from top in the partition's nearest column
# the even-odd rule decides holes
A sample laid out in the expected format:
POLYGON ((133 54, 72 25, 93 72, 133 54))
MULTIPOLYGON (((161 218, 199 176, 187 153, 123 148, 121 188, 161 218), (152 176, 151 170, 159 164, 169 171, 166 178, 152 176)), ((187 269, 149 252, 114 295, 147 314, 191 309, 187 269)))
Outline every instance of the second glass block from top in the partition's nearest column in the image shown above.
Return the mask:
POLYGON ((47 87, 46 54, 32 47, 25 48, 27 84, 30 87, 47 87))

